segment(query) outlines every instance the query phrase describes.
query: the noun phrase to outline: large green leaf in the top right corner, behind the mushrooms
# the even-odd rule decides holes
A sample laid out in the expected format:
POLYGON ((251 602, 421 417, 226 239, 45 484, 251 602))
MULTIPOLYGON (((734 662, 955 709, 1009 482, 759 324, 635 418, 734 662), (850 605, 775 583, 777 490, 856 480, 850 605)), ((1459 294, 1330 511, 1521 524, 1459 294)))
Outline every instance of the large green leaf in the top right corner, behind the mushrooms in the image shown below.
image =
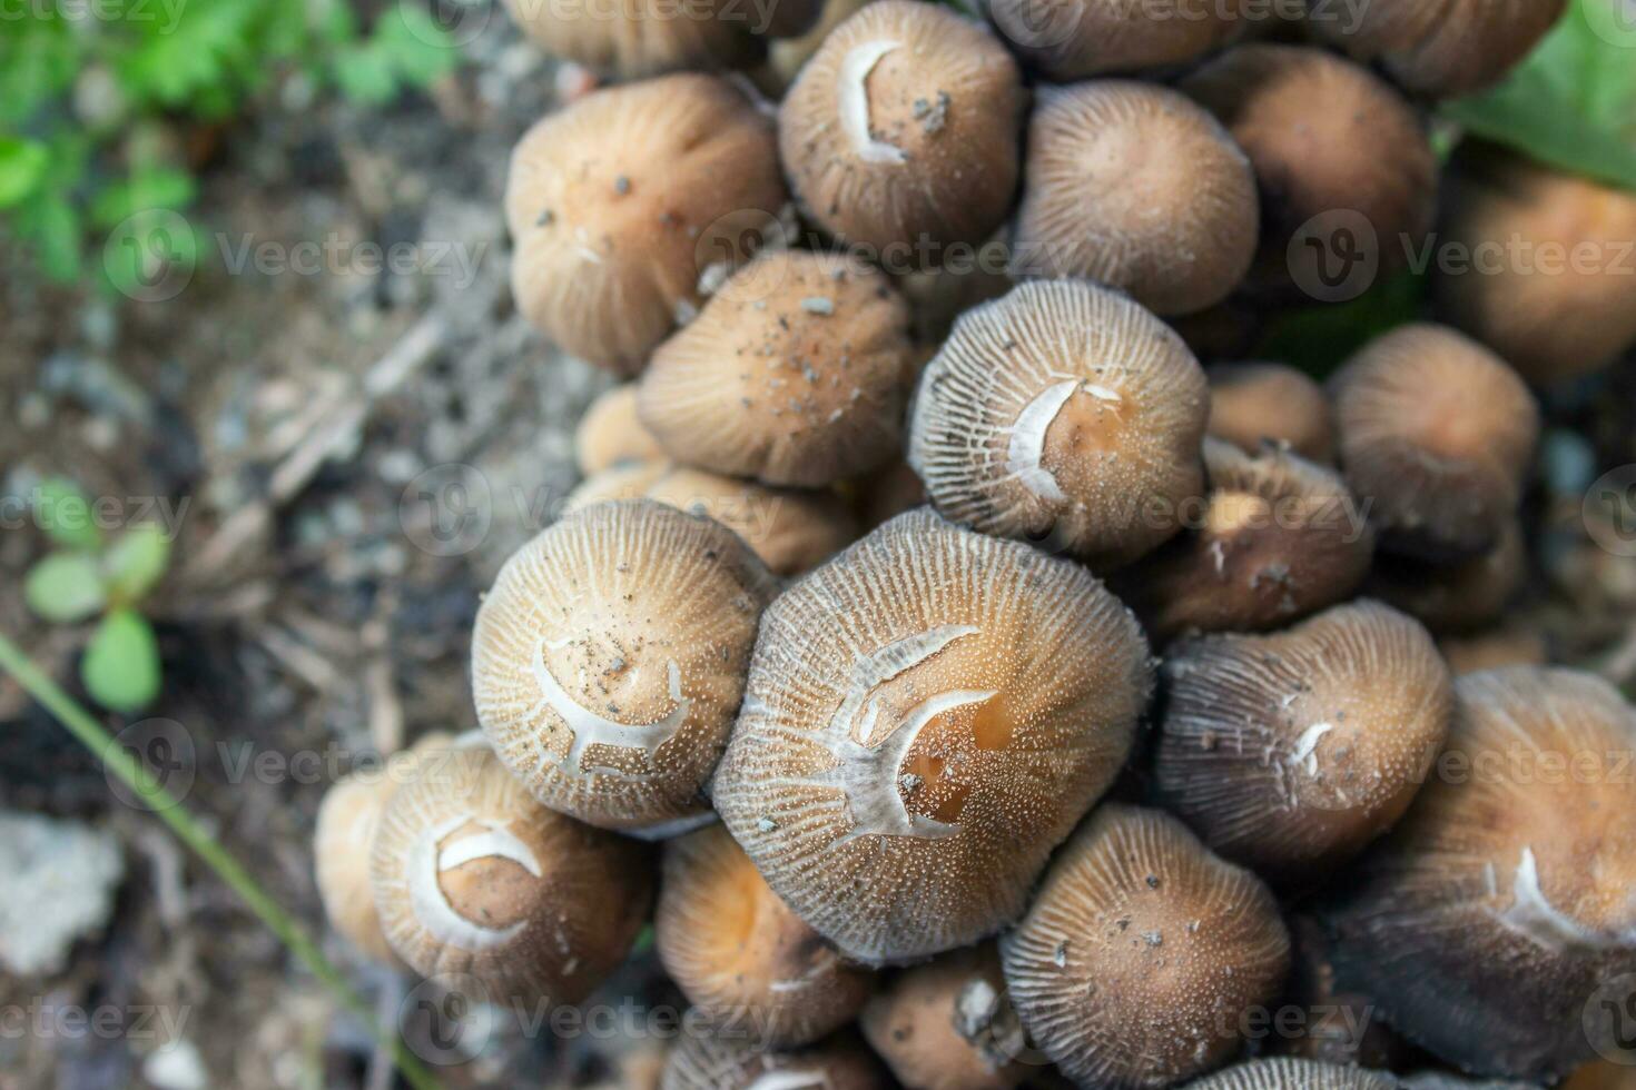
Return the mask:
POLYGON ((1561 170, 1636 190, 1636 26, 1574 0, 1499 87, 1443 105, 1469 132, 1561 170))

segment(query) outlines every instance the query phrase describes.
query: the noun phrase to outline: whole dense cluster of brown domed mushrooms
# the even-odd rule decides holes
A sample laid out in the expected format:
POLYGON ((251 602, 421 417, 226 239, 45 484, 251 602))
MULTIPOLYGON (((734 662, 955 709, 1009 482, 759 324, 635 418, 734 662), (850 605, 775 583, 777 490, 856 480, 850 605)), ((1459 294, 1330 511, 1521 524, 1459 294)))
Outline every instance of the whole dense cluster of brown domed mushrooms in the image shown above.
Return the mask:
POLYGON ((1327 384, 1214 363, 1332 209, 1382 270, 1433 229, 1631 237, 1631 194, 1427 139, 1562 0, 1178 3, 515 5, 614 77, 515 149, 515 302, 631 381, 484 598, 481 732, 329 794, 339 931, 556 1005, 651 918, 712 1026, 674 1090, 1592 1059, 1636 713, 1494 626, 1533 391, 1631 348, 1628 283, 1443 278, 1327 384), (1369 1030, 1248 1039, 1292 997, 1369 1030))

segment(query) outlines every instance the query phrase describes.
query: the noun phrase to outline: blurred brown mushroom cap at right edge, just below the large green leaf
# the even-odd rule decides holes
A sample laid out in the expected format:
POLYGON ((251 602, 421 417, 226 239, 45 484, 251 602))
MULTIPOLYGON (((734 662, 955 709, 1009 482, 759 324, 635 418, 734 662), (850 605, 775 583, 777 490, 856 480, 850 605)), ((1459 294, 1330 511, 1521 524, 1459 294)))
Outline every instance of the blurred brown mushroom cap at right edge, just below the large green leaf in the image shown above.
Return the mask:
POLYGON ((1448 176, 1438 237, 1472 258, 1432 281, 1453 325, 1536 386, 1600 371, 1636 345, 1636 194, 1476 141, 1448 176))

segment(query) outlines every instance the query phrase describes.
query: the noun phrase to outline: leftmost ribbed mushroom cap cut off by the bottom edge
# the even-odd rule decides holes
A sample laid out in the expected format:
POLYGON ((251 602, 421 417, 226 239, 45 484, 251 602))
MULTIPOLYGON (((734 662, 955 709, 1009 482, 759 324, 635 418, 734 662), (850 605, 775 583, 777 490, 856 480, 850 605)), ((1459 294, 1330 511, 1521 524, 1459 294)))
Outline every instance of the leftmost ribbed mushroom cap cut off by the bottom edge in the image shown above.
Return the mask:
MULTIPOLYGON (((694 1012, 689 1012, 689 1020, 694 1012)), ((774 1052, 746 1026, 682 1028, 659 1090, 887 1090, 880 1062, 851 1036, 774 1052)))

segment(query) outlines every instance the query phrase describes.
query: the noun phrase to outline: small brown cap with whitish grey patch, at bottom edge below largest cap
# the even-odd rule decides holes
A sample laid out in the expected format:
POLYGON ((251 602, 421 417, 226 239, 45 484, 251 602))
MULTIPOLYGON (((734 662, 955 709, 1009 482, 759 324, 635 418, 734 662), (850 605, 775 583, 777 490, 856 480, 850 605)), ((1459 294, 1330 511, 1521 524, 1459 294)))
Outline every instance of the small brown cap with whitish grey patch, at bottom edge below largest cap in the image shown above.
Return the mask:
POLYGON ((1011 1090, 1029 1074, 993 943, 905 969, 859 1026, 898 1082, 918 1090, 1011 1090))

